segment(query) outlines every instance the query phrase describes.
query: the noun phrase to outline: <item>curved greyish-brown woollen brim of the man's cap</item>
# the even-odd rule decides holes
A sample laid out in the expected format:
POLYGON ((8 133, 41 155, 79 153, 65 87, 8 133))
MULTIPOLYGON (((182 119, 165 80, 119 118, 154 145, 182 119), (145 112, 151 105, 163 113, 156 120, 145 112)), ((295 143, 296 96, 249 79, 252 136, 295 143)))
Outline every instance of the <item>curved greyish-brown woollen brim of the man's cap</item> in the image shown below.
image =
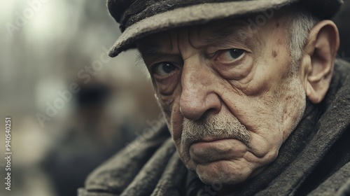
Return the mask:
POLYGON ((169 10, 165 13, 145 18, 127 27, 109 51, 109 56, 116 57, 124 50, 135 48, 136 41, 156 32, 185 27, 187 25, 204 24, 221 18, 257 13, 269 8, 277 9, 295 1, 297 0, 230 1, 225 3, 202 3, 169 10))

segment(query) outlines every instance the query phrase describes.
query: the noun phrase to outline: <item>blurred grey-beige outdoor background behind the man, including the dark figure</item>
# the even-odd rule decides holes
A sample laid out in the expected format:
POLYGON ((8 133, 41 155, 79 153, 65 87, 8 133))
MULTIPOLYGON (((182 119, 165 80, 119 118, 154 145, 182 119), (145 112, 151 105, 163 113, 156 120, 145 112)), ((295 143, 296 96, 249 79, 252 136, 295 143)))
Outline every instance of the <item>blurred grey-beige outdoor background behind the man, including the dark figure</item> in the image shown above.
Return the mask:
MULTIPOLYGON (((0 127, 12 118, 13 155, 11 191, 0 158, 0 195, 76 195, 92 169, 161 120, 136 52, 106 54, 120 31, 105 4, 1 0, 0 127)), ((349 18, 346 1, 334 21, 347 60, 349 18)))

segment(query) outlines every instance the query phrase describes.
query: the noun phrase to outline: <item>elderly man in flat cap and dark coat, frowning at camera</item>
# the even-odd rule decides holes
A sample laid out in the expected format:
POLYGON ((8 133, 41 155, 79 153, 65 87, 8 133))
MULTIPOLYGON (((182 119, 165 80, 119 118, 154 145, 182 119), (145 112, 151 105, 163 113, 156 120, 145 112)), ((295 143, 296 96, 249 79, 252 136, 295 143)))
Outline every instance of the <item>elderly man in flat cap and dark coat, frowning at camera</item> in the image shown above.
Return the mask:
POLYGON ((123 31, 110 55, 138 48, 167 125, 78 193, 349 193, 350 66, 327 20, 340 5, 109 0, 123 31))

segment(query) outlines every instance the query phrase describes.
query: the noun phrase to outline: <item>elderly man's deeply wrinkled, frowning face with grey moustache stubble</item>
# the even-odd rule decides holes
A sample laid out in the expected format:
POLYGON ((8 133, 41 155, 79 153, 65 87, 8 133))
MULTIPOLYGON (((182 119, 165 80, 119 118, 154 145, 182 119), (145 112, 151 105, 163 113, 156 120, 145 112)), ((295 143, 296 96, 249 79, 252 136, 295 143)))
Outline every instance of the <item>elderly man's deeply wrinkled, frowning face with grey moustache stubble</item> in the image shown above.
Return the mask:
POLYGON ((299 122, 305 93, 283 25, 225 20, 138 43, 177 151, 204 183, 255 176, 299 122))

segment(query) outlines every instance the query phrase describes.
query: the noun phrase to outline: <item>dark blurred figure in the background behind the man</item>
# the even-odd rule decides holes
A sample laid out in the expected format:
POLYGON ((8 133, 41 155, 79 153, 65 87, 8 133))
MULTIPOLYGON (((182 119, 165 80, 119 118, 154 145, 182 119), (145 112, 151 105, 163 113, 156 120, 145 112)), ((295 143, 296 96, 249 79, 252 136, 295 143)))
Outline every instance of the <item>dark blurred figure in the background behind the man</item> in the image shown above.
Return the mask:
POLYGON ((110 86, 96 80, 79 86, 80 91, 74 94, 76 113, 66 135, 43 162, 58 195, 76 195, 92 169, 134 138, 128 122, 113 121, 105 111, 110 86))

